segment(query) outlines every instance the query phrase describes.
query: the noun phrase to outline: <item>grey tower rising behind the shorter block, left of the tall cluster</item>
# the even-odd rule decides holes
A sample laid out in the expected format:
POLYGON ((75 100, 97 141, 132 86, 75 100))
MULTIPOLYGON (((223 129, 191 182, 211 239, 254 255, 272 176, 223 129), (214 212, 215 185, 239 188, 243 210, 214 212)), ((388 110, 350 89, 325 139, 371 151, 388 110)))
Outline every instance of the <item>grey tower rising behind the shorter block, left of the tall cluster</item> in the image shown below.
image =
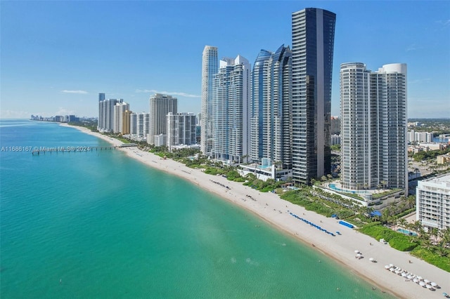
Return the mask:
MULTIPOLYGON (((155 142, 153 137, 155 135, 167 134, 167 114, 172 112, 176 114, 176 98, 172 98, 171 95, 162 95, 156 93, 150 96, 150 118, 148 134, 150 139, 147 140, 148 144, 153 145, 155 142)), ((146 135, 145 135, 146 136, 146 135)))

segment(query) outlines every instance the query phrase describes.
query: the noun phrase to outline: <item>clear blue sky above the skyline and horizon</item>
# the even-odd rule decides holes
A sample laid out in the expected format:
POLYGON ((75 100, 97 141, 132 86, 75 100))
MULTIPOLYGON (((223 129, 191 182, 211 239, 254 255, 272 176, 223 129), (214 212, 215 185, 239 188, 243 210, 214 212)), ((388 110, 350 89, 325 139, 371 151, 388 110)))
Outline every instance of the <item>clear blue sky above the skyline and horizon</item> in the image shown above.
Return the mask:
POLYGON ((450 117, 450 1, 1 1, 0 117, 98 116, 98 93, 148 112, 155 92, 200 112, 205 45, 219 57, 291 45, 291 13, 336 13, 339 68, 408 65, 408 116, 450 117))

